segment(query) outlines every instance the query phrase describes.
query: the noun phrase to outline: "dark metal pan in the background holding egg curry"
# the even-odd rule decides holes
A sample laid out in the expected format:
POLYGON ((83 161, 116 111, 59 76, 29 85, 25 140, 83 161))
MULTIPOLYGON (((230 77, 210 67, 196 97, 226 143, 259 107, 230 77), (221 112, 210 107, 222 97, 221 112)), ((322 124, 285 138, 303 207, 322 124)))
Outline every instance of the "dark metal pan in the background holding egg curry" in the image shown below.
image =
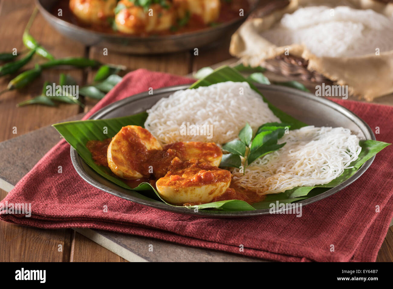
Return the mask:
POLYGON ((131 54, 169 53, 201 48, 208 44, 211 46, 218 45, 222 43, 223 39, 236 31, 259 2, 259 0, 248 0, 250 9, 247 13, 244 13, 242 18, 215 27, 176 35, 136 37, 97 32, 64 21, 50 13, 52 7, 58 1, 35 0, 42 16, 62 35, 82 42, 86 46, 100 46, 111 51, 131 54))

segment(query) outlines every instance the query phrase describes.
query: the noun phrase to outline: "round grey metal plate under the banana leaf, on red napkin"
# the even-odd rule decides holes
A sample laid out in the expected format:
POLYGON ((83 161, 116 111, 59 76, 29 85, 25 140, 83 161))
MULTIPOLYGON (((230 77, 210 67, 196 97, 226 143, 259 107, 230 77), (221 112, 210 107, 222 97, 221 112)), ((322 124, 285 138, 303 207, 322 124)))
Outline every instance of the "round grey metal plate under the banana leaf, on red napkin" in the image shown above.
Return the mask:
MULTIPOLYGON (((94 113, 90 119, 109 119, 144 112, 145 110, 151 108, 153 104, 155 104, 162 97, 168 97, 174 91, 186 88, 188 88, 188 85, 172 86, 155 90, 154 95, 149 95, 148 92, 139 93, 102 108, 98 112, 94 113)), ((259 84, 257 85, 257 88, 274 106, 280 108, 284 112, 292 115, 292 117, 295 117, 300 121, 315 126, 342 126, 349 128, 351 132, 358 135, 360 139, 375 140, 373 131, 362 119, 343 106, 336 104, 335 102, 329 101, 328 99, 322 97, 316 97, 311 93, 303 92, 293 88, 287 88, 284 86, 259 84)), ((315 201, 327 198, 328 196, 331 196, 339 190, 347 187, 358 177, 360 177, 365 172, 365 170, 367 170, 367 168, 373 162, 374 158, 375 157, 372 157, 367 162, 365 162, 364 165, 353 176, 340 185, 331 188, 330 190, 327 190, 318 196, 302 200, 302 205, 308 205, 310 203, 314 203, 315 201)), ((187 208, 172 207, 160 201, 143 199, 143 196, 140 194, 130 192, 130 190, 122 188, 97 174, 83 161, 76 150, 74 150, 72 147, 71 159, 78 174, 94 187, 108 192, 109 194, 142 205, 147 205, 171 212, 177 212, 180 214, 191 214, 195 216, 215 218, 246 217, 269 214, 269 209, 242 212, 223 212, 214 210, 199 210, 198 212, 194 212, 194 210, 187 208)))

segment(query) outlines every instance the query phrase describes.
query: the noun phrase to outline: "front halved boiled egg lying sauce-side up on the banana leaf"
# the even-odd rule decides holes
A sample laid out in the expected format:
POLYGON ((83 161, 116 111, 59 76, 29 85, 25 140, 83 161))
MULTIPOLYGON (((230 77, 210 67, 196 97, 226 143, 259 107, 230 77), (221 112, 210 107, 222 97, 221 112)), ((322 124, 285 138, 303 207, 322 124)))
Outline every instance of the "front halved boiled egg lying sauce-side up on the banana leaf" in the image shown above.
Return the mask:
POLYGON ((231 173, 208 163, 194 163, 168 172, 156 182, 160 196, 175 205, 209 203, 225 193, 231 173))

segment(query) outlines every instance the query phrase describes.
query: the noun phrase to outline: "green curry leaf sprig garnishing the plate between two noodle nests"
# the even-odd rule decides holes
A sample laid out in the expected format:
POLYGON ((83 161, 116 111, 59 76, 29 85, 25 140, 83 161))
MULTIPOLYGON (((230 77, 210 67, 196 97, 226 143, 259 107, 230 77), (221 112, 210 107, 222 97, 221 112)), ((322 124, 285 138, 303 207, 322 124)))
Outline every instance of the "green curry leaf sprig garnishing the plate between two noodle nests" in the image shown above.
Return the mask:
POLYGON ((277 144, 277 141, 289 128, 290 125, 285 123, 265 123, 258 128, 255 136, 252 137, 252 128, 250 124, 246 123, 239 132, 239 139, 222 146, 222 149, 228 151, 229 154, 222 155, 220 166, 234 168, 243 166, 245 169, 256 159, 282 148, 285 143, 277 144), (241 157, 243 157, 243 163, 241 157))

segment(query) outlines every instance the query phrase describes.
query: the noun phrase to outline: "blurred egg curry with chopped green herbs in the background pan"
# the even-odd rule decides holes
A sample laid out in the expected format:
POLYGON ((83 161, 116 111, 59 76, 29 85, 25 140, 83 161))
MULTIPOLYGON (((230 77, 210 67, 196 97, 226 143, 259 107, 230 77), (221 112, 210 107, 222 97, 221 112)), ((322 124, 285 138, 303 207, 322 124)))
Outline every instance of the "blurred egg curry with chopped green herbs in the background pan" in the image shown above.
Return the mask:
POLYGON ((69 0, 57 6, 53 14, 67 9, 71 13, 62 19, 79 26, 140 36, 196 31, 239 18, 240 9, 249 9, 247 0, 69 0))

